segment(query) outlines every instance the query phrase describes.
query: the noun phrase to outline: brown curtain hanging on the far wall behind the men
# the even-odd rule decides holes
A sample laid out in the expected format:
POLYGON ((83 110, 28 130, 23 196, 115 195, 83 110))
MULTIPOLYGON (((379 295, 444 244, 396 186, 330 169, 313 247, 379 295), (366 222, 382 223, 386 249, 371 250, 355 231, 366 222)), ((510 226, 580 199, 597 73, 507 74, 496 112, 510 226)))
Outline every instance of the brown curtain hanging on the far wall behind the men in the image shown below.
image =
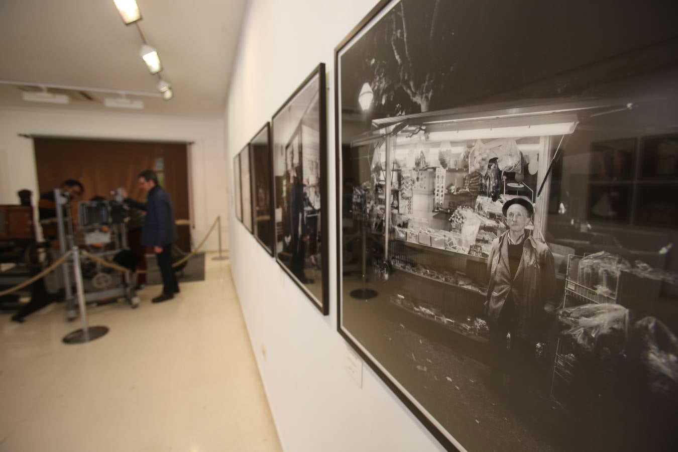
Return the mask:
MULTIPOLYGON (((169 192, 176 220, 188 219, 188 167, 184 143, 34 138, 35 164, 41 193, 59 188, 66 179, 85 186, 83 201, 95 196, 110 198, 111 190, 127 189, 129 197, 145 201, 138 184, 144 169, 158 173, 169 192)), ((188 226, 178 226, 177 245, 191 249, 188 226)))

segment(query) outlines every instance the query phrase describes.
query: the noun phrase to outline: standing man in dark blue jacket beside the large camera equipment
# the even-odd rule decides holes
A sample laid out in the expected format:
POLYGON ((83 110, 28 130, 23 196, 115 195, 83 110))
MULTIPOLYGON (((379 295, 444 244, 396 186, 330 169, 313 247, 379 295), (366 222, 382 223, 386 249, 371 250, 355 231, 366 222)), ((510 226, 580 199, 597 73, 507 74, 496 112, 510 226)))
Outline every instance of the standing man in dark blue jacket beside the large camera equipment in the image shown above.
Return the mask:
POLYGON ((139 174, 139 186, 148 192, 141 243, 145 247, 153 247, 163 278, 163 293, 153 298, 153 303, 165 302, 179 292, 179 284, 172 268, 172 243, 177 239, 172 200, 158 184, 158 176, 151 169, 139 174))

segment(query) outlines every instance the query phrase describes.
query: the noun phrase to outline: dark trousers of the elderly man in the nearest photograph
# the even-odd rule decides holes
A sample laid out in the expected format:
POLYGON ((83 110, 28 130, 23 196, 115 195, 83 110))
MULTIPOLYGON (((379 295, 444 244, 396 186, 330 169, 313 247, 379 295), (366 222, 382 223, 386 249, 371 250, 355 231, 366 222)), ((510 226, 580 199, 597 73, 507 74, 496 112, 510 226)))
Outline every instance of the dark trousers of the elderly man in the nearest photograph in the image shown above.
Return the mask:
POLYGON ((509 373, 517 382, 527 383, 525 379, 534 377, 534 346, 533 342, 518 337, 517 308, 512 300, 506 300, 497 321, 490 323, 492 379, 499 381, 509 373), (506 339, 508 333, 511 334, 510 343, 506 339))

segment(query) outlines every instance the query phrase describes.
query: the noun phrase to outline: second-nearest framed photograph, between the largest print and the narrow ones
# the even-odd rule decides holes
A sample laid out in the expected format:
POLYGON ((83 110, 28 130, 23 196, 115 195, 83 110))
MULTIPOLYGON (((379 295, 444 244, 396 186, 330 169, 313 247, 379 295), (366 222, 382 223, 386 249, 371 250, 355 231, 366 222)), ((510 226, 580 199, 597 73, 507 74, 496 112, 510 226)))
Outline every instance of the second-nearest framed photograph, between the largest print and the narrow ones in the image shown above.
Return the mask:
POLYGON ((330 312, 327 116, 321 63, 273 116, 275 255, 325 315, 330 312))

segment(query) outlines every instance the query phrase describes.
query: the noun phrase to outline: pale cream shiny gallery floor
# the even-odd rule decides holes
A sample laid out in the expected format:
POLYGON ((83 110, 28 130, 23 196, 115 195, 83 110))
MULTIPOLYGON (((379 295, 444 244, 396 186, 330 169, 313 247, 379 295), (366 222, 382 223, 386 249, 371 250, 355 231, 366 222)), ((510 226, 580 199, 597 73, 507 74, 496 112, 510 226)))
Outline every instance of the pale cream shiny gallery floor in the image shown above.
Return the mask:
POLYGON ((90 307, 89 344, 62 344, 62 304, 0 316, 0 451, 281 451, 228 261, 205 262, 169 302, 90 307))

